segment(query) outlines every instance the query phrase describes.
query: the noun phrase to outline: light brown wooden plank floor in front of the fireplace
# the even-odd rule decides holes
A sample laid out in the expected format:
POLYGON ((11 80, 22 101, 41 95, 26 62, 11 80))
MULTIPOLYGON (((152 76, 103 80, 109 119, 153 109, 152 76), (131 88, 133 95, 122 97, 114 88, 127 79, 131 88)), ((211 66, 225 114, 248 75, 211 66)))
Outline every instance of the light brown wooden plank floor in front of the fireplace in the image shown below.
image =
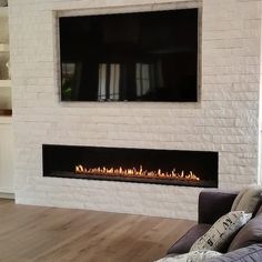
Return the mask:
POLYGON ((193 224, 0 199, 0 261, 151 262, 193 224))

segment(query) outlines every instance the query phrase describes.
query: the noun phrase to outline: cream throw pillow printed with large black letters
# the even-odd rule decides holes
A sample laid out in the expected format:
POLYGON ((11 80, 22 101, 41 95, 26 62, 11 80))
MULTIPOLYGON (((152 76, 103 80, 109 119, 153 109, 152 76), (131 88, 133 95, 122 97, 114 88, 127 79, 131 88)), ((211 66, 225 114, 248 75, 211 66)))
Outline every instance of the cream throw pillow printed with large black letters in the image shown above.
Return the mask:
POLYGON ((220 251, 241 226, 243 226, 252 214, 244 211, 231 211, 221 216, 211 229, 200 239, 198 239, 190 251, 214 250, 220 251))

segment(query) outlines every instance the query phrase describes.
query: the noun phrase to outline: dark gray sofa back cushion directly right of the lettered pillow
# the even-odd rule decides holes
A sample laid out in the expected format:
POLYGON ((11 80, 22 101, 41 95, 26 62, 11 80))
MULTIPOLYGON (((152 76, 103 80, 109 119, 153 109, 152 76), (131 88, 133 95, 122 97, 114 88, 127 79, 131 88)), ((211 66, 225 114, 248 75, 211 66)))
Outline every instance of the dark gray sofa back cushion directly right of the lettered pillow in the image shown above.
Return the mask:
POLYGON ((262 213, 258 213, 239 231, 231 242, 229 251, 255 243, 262 243, 262 213))

